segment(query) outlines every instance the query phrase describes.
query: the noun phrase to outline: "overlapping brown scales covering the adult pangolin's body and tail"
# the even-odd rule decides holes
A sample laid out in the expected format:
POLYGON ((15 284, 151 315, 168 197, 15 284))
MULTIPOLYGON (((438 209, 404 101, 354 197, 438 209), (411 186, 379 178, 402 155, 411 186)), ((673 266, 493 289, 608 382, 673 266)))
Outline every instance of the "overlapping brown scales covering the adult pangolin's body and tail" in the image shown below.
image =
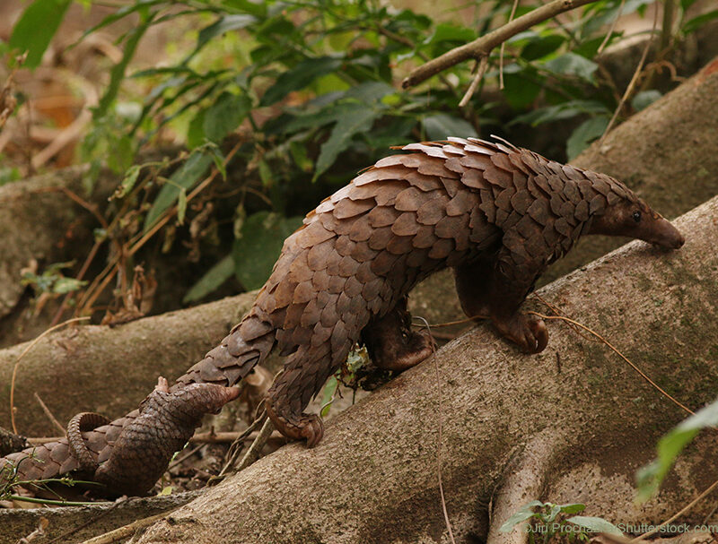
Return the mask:
MULTIPOLYGON (((270 394, 283 414, 297 416, 363 327, 417 281, 491 255, 509 281, 528 290, 588 229, 593 213, 635 200, 611 177, 508 143, 452 138, 402 149, 412 152, 380 160, 307 215, 250 313, 175 387, 236 384, 277 346, 287 359, 270 394)), ((83 433, 98 462, 136 417, 135 410, 83 433)), ((34 455, 41 462, 23 462, 23 479, 78 466, 66 441, 39 446, 34 455)))

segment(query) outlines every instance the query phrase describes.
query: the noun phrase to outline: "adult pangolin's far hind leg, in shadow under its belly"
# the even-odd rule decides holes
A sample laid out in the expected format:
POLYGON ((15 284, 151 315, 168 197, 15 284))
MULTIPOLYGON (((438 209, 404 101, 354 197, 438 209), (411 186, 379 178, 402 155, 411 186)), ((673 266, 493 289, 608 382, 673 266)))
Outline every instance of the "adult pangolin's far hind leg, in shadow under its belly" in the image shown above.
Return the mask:
POLYGON ((411 330, 406 297, 388 314, 369 322, 363 328, 362 341, 374 365, 384 370, 414 367, 435 350, 430 332, 411 330))

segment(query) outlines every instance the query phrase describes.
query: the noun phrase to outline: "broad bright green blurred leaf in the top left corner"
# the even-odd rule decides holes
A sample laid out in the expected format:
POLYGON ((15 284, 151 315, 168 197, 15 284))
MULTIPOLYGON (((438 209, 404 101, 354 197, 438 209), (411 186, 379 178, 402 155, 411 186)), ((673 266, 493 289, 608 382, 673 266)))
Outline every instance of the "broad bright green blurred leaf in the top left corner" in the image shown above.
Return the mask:
POLYGON ((35 0, 13 27, 10 47, 27 51, 26 68, 36 68, 65 17, 71 0, 35 0))

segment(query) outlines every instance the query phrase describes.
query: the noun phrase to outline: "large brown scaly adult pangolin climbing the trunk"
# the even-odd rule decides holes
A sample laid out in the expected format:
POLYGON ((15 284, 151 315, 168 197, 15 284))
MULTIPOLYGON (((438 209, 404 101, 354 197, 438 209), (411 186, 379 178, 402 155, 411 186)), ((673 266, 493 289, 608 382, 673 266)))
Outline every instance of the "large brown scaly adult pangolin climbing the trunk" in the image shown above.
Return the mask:
MULTIPOLYGON (((401 370, 430 355, 430 336, 408 329, 406 305, 408 292, 431 273, 451 267, 466 314, 490 316, 505 338, 537 353, 547 345, 546 325, 518 310, 547 265, 578 237, 684 243, 616 179, 498 138, 399 149, 408 152, 379 160, 306 216, 249 314, 173 390, 236 384, 276 348, 286 360, 267 393, 267 413, 285 436, 313 446, 322 423, 303 410, 357 341, 384 368, 401 370)), ((109 459, 136 417, 82 433, 95 462, 109 459)), ((27 452, 8 459, 22 460, 25 477, 78 466, 66 442, 35 448, 34 456, 39 468, 27 452)))

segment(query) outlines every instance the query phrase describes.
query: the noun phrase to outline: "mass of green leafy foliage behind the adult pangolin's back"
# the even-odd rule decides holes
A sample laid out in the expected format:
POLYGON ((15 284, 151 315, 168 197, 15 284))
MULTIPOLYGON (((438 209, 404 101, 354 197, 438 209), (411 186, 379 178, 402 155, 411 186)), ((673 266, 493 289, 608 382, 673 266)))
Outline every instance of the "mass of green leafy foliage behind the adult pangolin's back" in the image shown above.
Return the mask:
MULTIPOLYGON (((83 158, 93 171, 107 166, 125 172, 113 209, 122 217, 112 218, 107 235, 119 232, 136 240, 171 216, 160 230, 167 250, 182 237, 196 236, 191 229, 205 203, 223 204, 217 194, 232 194, 228 205, 215 206, 216 222, 240 224, 249 217, 235 229, 232 259, 233 272, 250 288, 266 279, 267 263, 281 246, 278 237, 296 224, 287 218, 308 212, 357 170, 390 152, 390 145, 476 136, 479 125, 482 134, 503 134, 504 126, 525 130, 570 120, 575 128, 566 151, 573 158, 600 136, 617 107, 613 83, 594 60, 609 23, 621 9, 643 13, 651 3, 627 0, 621 8, 620 0, 600 0, 571 12, 561 24, 542 22, 512 37, 503 54, 502 99, 485 103, 479 88, 460 110, 457 104, 473 78, 470 63, 410 91, 399 90, 398 81, 425 59, 505 23, 510 4, 493 0, 473 20, 433 22, 411 8, 374 0, 131 0, 84 33, 133 21, 118 39, 123 55, 109 72, 83 142, 83 158), (170 21, 187 28, 193 43, 167 65, 129 73, 147 30, 170 21), (149 91, 137 91, 138 86, 149 91), (188 148, 186 164, 175 169, 178 160, 172 158, 133 166, 137 151, 161 142, 166 131, 188 148), (228 142, 235 145, 232 155, 228 142), (213 164, 227 178, 229 160, 229 187, 216 188, 215 182, 190 202, 213 164), (252 230, 255 224, 267 220, 273 234, 262 231, 263 243, 248 248, 250 237, 261 231, 252 230)), ((69 4, 28 4, 10 39, 11 47, 29 51, 27 65, 39 64, 69 4)), ((521 4, 517 16, 541 4, 521 4)), ((683 0, 677 8, 679 35, 718 16, 714 11, 686 20, 691 4, 683 0)), ((620 32, 613 41, 619 39, 620 32)), ((496 86, 498 57, 496 49, 482 85, 496 86)), ((660 96, 640 91, 631 102, 635 110, 660 96)), ((188 300, 226 279, 229 261, 220 264, 188 300)))

